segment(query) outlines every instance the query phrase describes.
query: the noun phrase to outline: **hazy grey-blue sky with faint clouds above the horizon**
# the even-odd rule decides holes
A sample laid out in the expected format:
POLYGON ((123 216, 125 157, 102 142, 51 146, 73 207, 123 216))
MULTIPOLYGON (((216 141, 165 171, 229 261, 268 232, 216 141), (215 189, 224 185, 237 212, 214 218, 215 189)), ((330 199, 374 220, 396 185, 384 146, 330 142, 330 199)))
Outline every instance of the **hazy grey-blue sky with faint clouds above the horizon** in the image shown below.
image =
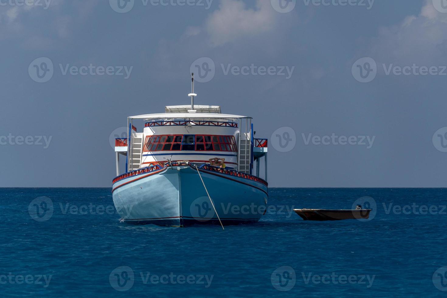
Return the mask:
POLYGON ((0 187, 111 187, 114 134, 191 71, 271 187, 446 186, 445 0, 0 0, 0 50, 0 187))

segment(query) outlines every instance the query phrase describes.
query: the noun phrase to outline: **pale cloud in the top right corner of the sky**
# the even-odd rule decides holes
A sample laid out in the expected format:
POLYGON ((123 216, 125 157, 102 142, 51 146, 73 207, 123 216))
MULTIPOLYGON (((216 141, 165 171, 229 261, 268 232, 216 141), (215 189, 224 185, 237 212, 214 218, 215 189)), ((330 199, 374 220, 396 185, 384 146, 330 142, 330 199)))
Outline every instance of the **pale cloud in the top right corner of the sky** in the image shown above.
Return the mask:
POLYGON ((440 13, 426 0, 418 16, 407 16, 400 24, 384 27, 367 44, 379 63, 439 66, 447 63, 447 13, 440 13))

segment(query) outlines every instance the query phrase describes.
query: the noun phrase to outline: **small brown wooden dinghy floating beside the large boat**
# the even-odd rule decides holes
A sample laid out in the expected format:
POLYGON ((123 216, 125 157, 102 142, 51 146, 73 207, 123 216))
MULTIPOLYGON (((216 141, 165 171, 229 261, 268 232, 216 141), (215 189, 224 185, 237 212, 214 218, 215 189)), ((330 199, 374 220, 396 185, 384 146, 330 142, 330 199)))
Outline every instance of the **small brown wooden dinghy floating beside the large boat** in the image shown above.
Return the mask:
POLYGON ((358 205, 355 210, 328 210, 328 209, 294 209, 304 220, 342 220, 342 219, 362 219, 369 218, 371 209, 362 209, 358 205))

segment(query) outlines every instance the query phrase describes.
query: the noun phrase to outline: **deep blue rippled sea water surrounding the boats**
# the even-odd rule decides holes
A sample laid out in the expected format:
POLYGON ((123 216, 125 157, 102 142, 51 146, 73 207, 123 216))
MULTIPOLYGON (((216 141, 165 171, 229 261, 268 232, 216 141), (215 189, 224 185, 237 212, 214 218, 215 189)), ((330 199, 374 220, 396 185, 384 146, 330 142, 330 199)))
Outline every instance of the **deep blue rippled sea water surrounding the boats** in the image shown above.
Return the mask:
POLYGON ((439 268, 447 266, 447 210, 443 210, 447 189, 269 192, 271 207, 259 223, 228 226, 223 231, 219 226, 176 228, 122 223, 111 212, 110 189, 0 189, 0 295, 446 294, 441 290, 447 290, 447 267, 439 268), (28 207, 41 196, 49 197, 54 207, 51 218, 38 222, 31 218, 28 207), (287 211, 350 209, 364 196, 376 203, 375 216, 367 222, 309 222, 287 211), (89 204, 93 204, 91 210, 89 204), (392 208, 431 206, 432 212, 419 214, 420 207, 407 207, 407 214, 403 214, 398 209, 389 210, 389 204, 392 208), (101 206, 99 210, 97 206, 101 206), (109 212, 103 212, 102 207, 109 212), (121 266, 131 271, 127 267, 123 271, 121 266), (120 285, 118 277, 122 278, 120 285), (112 284, 126 291, 115 290, 112 284))

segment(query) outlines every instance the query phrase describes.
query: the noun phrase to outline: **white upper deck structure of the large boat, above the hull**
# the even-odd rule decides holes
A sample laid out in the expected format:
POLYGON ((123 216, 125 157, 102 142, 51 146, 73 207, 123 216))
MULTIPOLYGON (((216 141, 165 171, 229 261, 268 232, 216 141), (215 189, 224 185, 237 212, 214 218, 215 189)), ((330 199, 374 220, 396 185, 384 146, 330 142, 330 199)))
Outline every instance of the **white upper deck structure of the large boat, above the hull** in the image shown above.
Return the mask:
POLYGON ((251 173, 253 161, 266 155, 267 141, 253 138, 251 117, 223 114, 220 106, 190 108, 166 106, 165 113, 128 117, 129 138, 118 139, 115 147, 128 156, 127 171, 169 159, 209 163, 221 158, 228 169, 251 173), (137 120, 144 121, 142 132, 133 125, 137 120))

